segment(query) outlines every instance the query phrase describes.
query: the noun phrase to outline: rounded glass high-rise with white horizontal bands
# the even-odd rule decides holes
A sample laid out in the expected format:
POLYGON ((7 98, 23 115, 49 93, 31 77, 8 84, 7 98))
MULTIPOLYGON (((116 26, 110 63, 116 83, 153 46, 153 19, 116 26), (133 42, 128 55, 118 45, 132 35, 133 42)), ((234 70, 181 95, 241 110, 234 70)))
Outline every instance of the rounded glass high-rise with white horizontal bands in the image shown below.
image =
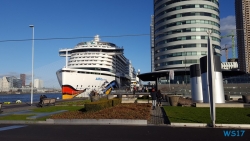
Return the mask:
POLYGON ((199 64, 200 58, 207 55, 207 30, 212 30, 212 46, 220 55, 218 0, 154 0, 153 17, 152 71, 199 64))

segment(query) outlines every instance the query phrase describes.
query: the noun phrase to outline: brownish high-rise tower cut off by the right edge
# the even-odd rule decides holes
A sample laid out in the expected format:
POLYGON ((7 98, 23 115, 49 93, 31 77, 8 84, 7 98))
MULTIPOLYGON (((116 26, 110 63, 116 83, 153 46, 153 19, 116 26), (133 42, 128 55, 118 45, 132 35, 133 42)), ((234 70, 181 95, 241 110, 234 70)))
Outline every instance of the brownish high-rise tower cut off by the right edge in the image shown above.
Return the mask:
POLYGON ((235 0, 238 65, 250 73, 250 0, 235 0))

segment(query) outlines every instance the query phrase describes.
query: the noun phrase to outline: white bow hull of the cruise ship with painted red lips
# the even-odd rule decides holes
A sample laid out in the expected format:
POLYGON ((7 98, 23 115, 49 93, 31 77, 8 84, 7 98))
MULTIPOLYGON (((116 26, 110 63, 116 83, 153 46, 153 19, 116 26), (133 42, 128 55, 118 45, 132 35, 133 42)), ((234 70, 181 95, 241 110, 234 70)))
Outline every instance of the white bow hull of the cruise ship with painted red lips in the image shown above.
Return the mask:
MULTIPOLYGON (((89 97, 91 91, 103 93, 104 89, 115 81, 114 76, 100 75, 100 71, 86 71, 78 73, 81 69, 61 69, 57 71, 58 81, 62 87, 63 99, 76 96, 89 97)), ((110 73, 111 75, 112 73, 110 73)))

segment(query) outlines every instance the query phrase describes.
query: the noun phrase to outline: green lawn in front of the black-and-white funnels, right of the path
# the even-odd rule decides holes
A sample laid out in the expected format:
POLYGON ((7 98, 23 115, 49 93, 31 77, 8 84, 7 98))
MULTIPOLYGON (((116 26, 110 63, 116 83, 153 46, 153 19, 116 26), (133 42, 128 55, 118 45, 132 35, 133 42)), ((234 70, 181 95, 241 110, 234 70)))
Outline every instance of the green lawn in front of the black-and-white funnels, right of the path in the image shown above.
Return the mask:
MULTIPOLYGON (((170 122, 211 123, 210 109, 164 106, 170 122)), ((216 123, 250 124, 250 108, 216 108, 216 123)))

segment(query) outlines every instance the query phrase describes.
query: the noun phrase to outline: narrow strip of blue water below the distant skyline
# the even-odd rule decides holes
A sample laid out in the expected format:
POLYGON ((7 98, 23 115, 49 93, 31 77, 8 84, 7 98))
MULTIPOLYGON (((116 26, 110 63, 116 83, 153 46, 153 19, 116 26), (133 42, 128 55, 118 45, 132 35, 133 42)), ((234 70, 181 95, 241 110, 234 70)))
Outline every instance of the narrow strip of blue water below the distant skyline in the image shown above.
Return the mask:
MULTIPOLYGON (((40 95, 46 95, 48 98, 59 98, 62 99, 62 93, 35 93, 33 94, 33 102, 39 102, 40 95)), ((22 103, 30 103, 31 94, 1 94, 0 103, 12 102, 15 103, 17 100, 21 100, 22 103)))

